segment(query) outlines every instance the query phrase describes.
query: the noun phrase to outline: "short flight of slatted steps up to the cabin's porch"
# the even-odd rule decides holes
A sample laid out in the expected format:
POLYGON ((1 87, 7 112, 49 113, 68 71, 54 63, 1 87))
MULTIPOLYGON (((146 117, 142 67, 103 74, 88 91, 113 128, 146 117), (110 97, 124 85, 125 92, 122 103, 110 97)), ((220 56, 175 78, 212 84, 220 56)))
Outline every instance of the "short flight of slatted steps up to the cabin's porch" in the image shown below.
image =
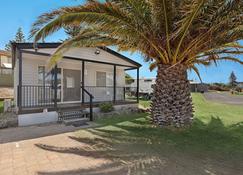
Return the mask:
POLYGON ((85 110, 68 110, 68 111, 59 111, 58 112, 58 120, 74 120, 74 119, 83 119, 89 117, 89 112, 85 110))

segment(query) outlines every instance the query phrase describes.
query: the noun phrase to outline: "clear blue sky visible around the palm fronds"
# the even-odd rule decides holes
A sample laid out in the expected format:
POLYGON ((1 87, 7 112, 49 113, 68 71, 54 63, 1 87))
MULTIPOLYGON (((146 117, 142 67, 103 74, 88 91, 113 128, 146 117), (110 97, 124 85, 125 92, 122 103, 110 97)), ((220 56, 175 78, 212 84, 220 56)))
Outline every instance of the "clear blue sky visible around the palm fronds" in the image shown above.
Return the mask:
MULTIPOLYGON (((14 39, 15 33, 19 27, 22 27, 26 37, 29 36, 32 23, 36 18, 45 12, 63 7, 74 6, 83 3, 83 0, 0 0, 0 49, 4 49, 9 40, 14 39)), ((46 42, 56 42, 65 39, 63 31, 57 32, 46 39, 46 42)), ((243 42, 241 42, 243 45, 243 42)), ((150 72, 148 63, 143 61, 143 57, 139 53, 130 54, 122 52, 121 54, 142 64, 140 69, 140 77, 155 77, 156 71, 150 72)), ((243 60, 243 55, 239 55, 243 60)), ((243 66, 232 62, 221 62, 217 66, 203 67, 199 66, 200 75, 205 83, 227 83, 229 75, 234 71, 237 81, 243 82, 243 66)), ((130 72, 135 76, 134 71, 130 72)), ((197 75, 189 72, 189 79, 199 81, 197 75)))

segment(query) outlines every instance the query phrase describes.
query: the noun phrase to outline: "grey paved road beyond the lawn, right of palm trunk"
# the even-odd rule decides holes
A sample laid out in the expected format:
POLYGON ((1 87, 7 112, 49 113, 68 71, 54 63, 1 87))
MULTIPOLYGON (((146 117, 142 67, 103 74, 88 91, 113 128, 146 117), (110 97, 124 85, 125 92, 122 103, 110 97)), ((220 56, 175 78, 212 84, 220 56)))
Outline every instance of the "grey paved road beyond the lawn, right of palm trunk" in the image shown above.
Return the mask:
POLYGON ((204 97, 213 102, 243 105, 243 95, 232 95, 229 92, 208 92, 204 93, 204 97))

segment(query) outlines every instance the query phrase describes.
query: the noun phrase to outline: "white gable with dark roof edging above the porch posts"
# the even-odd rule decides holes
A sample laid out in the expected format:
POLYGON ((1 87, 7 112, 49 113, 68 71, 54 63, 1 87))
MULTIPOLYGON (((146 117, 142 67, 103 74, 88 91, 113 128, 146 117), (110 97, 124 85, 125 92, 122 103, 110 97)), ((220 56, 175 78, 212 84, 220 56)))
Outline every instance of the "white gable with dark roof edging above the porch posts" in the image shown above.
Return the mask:
MULTIPOLYGON (((51 56, 60 44, 61 43, 38 43, 34 45, 33 43, 13 43, 13 48, 17 48, 23 53, 51 56)), ((16 52, 16 49, 13 50, 16 52)), ((16 53, 13 55, 16 55, 16 53)), ((107 47, 71 48, 63 54, 63 57, 67 59, 126 66, 128 69, 135 69, 142 66, 138 62, 107 47), (96 53, 96 51, 98 51, 98 53, 96 53)), ((15 63, 15 60, 16 58, 13 56, 13 63, 15 63)))

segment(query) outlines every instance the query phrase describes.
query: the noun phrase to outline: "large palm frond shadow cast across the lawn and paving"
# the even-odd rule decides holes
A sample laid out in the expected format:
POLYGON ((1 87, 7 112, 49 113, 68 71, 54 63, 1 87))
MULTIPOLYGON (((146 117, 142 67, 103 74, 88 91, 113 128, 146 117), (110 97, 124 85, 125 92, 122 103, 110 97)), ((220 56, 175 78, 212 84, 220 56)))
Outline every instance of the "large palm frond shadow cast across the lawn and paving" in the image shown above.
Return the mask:
POLYGON ((243 124, 225 126, 220 118, 209 123, 195 119, 182 131, 153 127, 146 118, 124 120, 87 129, 70 137, 83 147, 37 144, 46 151, 105 158, 111 163, 89 169, 38 172, 52 174, 240 174, 243 171, 243 124))

